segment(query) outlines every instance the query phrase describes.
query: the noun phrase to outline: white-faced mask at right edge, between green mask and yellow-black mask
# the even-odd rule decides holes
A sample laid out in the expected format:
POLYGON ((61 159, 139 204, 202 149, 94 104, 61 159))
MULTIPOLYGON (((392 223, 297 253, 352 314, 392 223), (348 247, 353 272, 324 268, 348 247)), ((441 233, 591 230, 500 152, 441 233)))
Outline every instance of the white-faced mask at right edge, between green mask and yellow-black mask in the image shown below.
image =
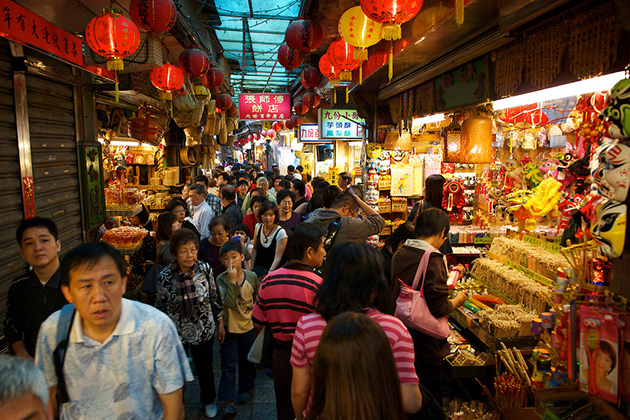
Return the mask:
POLYGON ((630 147, 615 141, 599 153, 599 166, 593 172, 599 191, 604 197, 626 201, 630 187, 630 147))

